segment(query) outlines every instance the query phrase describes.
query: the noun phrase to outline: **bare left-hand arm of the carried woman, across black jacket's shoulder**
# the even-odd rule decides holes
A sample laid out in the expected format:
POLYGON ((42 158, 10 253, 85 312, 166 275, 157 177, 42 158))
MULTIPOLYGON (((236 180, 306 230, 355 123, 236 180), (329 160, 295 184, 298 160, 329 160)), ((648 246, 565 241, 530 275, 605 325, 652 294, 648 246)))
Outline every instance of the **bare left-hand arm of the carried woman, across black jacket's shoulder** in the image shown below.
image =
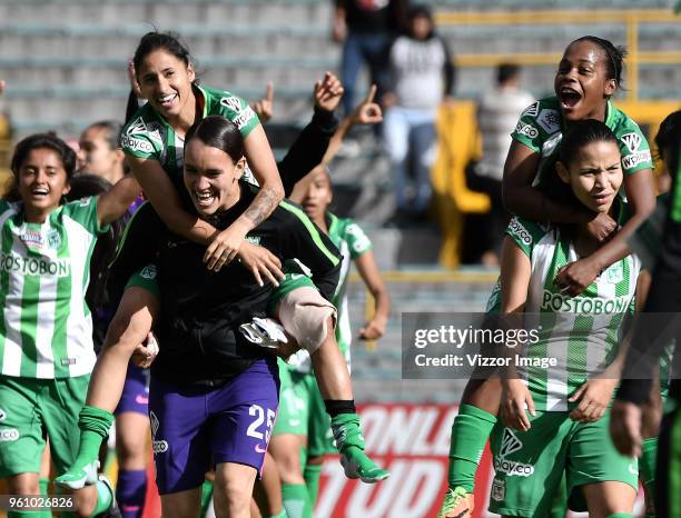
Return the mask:
POLYGON ((145 160, 129 155, 127 159, 145 196, 168 229, 190 241, 209 245, 216 228, 182 208, 179 195, 161 165, 156 160, 145 160))

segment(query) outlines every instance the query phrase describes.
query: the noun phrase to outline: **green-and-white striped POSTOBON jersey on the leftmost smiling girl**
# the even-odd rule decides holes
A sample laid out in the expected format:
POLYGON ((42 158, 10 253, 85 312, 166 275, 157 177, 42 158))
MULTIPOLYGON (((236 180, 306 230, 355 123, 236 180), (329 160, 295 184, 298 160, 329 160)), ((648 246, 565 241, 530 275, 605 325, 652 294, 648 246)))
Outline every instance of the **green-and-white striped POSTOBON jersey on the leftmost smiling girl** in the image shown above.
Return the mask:
POLYGON ((97 198, 60 206, 45 223, 0 200, 0 372, 69 378, 95 365, 85 300, 100 228, 97 198))

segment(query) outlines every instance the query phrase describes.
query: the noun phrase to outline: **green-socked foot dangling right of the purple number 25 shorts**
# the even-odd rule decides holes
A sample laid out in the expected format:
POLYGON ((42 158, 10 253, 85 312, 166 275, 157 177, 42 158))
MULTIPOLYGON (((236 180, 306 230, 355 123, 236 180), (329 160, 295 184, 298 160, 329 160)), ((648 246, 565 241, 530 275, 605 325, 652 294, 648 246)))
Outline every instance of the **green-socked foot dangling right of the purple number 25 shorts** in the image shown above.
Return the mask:
POLYGON ((363 482, 374 484, 385 480, 391 474, 379 468, 364 452, 364 437, 359 430, 359 416, 340 414, 332 419, 332 430, 336 447, 340 454, 340 466, 347 478, 358 478, 363 482))

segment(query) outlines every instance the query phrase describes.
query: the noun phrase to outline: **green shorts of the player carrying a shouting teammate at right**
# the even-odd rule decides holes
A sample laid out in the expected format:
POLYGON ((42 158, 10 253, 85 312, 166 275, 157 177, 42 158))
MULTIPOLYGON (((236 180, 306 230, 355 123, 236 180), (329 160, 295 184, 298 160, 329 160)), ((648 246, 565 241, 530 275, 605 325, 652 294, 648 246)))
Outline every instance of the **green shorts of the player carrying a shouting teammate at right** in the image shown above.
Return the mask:
POLYGON ((490 436, 495 476, 490 511, 507 516, 545 517, 565 472, 570 508, 584 511, 580 486, 604 481, 639 488, 638 459, 620 455, 610 439, 610 410, 598 421, 581 424, 569 412, 529 416, 529 431, 501 421, 490 436), (576 489, 576 490, 575 490, 576 489))

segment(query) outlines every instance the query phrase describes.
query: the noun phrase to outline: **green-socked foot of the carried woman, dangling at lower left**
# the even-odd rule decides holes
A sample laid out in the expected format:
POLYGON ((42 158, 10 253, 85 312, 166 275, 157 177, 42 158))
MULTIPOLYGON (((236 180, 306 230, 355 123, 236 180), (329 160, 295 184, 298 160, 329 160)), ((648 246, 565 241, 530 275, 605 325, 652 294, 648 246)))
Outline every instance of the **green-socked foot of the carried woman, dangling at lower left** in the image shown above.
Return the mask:
POLYGON ((80 489, 86 484, 97 482, 99 447, 109 434, 111 422, 114 422, 114 414, 87 405, 82 407, 78 417, 80 428, 78 456, 67 472, 57 477, 56 484, 80 489))

